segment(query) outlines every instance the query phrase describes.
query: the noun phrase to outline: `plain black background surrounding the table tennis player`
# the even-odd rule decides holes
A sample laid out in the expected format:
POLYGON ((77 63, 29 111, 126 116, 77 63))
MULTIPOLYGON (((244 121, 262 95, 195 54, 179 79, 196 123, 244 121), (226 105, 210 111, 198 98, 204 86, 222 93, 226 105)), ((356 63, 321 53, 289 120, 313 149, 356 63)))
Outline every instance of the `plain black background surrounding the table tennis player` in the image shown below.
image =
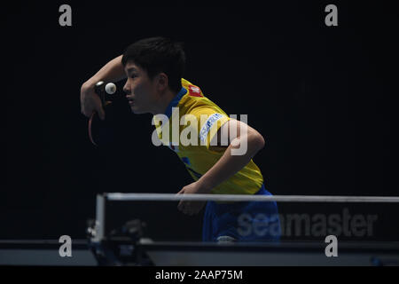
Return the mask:
MULTIPOLYGON (((192 182, 176 154, 153 146, 150 114, 127 115, 123 141, 96 148, 80 113, 82 83, 148 36, 184 42, 184 78, 227 114, 248 114, 267 141, 254 162, 271 193, 398 195, 398 15, 388 2, 13 2, 2 14, 2 239, 82 238, 96 193, 192 182), (59 26, 61 4, 72 27, 59 26), (338 6, 338 27, 325 26, 326 4, 338 6)), ((201 217, 176 204, 112 206, 115 225, 143 215, 154 239, 200 238, 201 217)), ((398 240, 397 206, 355 210, 381 214, 377 239, 398 240)))

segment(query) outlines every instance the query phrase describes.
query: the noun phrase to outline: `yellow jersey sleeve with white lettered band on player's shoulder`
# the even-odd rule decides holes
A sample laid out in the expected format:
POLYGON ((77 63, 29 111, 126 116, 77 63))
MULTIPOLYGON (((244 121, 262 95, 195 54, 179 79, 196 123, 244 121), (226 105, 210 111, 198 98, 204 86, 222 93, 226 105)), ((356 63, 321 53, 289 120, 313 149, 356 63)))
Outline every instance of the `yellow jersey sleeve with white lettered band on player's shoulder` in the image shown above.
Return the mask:
POLYGON ((196 107, 190 114, 193 114, 198 122, 199 145, 207 146, 207 148, 211 146, 210 141, 215 137, 217 131, 225 122, 231 120, 227 114, 212 106, 196 107))

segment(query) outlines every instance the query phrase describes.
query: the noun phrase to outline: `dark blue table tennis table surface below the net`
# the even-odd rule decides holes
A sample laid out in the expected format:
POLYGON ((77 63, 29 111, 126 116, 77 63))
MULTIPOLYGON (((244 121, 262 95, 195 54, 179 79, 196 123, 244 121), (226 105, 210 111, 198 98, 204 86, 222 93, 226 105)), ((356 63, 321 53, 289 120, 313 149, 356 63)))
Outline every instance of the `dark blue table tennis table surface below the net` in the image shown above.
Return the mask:
MULTIPOLYGON (((132 246, 127 239, 114 239, 132 246)), ((2 240, 2 265, 97 265, 87 240, 73 240, 74 257, 60 257, 58 240, 2 240)), ((190 241, 143 241, 139 244, 161 266, 399 265, 399 242, 339 242, 338 257, 325 256, 324 241, 217 244, 190 241)))

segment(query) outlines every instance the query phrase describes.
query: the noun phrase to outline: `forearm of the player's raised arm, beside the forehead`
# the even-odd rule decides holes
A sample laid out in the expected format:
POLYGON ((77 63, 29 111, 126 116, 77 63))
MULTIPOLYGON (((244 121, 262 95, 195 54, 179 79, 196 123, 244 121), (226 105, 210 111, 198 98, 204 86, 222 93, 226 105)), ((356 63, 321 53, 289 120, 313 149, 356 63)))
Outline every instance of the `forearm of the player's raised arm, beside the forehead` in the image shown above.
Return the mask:
POLYGON ((98 70, 98 73, 93 75, 85 84, 95 84, 98 81, 118 82, 126 78, 125 71, 121 64, 122 56, 112 59, 104 67, 98 70))

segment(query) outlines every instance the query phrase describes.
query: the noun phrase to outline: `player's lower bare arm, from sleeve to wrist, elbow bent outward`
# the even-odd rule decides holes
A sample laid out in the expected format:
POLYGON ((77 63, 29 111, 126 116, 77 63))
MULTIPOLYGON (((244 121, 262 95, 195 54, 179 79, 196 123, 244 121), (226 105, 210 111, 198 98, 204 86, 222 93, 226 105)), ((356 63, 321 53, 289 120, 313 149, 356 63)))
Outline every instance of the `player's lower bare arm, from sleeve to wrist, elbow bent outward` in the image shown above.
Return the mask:
POLYGON ((223 140, 227 140, 228 146, 219 161, 198 180, 203 193, 209 193, 244 168, 265 145, 257 130, 234 119, 225 122, 213 139, 217 139, 217 146, 223 146, 223 140))

